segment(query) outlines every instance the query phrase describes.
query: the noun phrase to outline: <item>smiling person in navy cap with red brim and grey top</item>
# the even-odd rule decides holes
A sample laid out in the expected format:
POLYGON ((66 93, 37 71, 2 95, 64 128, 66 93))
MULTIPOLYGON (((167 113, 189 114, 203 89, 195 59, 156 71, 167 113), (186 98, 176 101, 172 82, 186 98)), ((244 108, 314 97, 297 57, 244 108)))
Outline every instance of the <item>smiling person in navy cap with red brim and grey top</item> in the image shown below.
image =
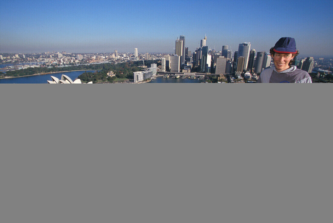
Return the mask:
POLYGON ((299 54, 294 38, 280 38, 269 53, 273 58, 274 67, 263 70, 257 83, 312 83, 306 71, 291 65, 299 54))

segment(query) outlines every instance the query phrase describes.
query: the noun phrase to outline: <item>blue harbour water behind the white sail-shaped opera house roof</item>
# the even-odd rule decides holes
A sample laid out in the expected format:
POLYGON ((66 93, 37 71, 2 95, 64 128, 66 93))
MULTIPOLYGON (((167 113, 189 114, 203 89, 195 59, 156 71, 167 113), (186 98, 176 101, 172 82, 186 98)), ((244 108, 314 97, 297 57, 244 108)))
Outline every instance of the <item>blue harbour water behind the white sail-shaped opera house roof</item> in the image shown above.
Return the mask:
MULTIPOLYGON (((87 72, 96 72, 96 70, 87 70, 87 72)), ((85 73, 85 71, 70 71, 61 72, 54 74, 41 74, 28 77, 18 77, 18 78, 5 78, 0 79, 1 84, 47 84, 47 80, 52 81, 51 76, 61 79, 61 75, 67 75, 73 81, 79 77, 79 75, 85 73)))

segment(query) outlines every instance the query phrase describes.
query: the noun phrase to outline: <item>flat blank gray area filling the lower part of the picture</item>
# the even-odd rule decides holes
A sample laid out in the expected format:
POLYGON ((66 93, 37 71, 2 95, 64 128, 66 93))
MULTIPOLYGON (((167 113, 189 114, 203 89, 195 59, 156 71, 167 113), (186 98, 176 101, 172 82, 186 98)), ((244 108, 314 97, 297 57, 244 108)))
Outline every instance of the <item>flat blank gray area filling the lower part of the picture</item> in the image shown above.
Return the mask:
POLYGON ((331 222, 331 89, 1 84, 0 220, 331 222))

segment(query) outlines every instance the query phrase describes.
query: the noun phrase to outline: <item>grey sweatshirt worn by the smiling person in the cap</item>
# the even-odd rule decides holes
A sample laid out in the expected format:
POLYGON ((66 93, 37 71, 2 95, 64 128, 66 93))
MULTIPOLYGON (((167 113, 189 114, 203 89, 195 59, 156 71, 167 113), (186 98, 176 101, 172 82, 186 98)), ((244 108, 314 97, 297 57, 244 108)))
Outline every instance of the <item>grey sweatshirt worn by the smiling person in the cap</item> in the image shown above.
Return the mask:
POLYGON ((277 72, 275 67, 265 69, 261 72, 257 83, 312 83, 310 75, 296 66, 277 72))

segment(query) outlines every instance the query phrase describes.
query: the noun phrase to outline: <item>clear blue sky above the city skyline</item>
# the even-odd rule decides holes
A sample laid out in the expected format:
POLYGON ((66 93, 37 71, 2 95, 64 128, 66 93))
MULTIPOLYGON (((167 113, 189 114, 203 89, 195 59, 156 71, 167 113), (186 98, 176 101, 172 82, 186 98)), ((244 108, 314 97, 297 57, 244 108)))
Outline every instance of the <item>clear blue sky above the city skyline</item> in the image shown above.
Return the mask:
POLYGON ((205 34, 216 51, 251 42, 269 51, 294 37, 304 56, 333 55, 332 1, 0 0, 0 53, 194 51, 205 34))

